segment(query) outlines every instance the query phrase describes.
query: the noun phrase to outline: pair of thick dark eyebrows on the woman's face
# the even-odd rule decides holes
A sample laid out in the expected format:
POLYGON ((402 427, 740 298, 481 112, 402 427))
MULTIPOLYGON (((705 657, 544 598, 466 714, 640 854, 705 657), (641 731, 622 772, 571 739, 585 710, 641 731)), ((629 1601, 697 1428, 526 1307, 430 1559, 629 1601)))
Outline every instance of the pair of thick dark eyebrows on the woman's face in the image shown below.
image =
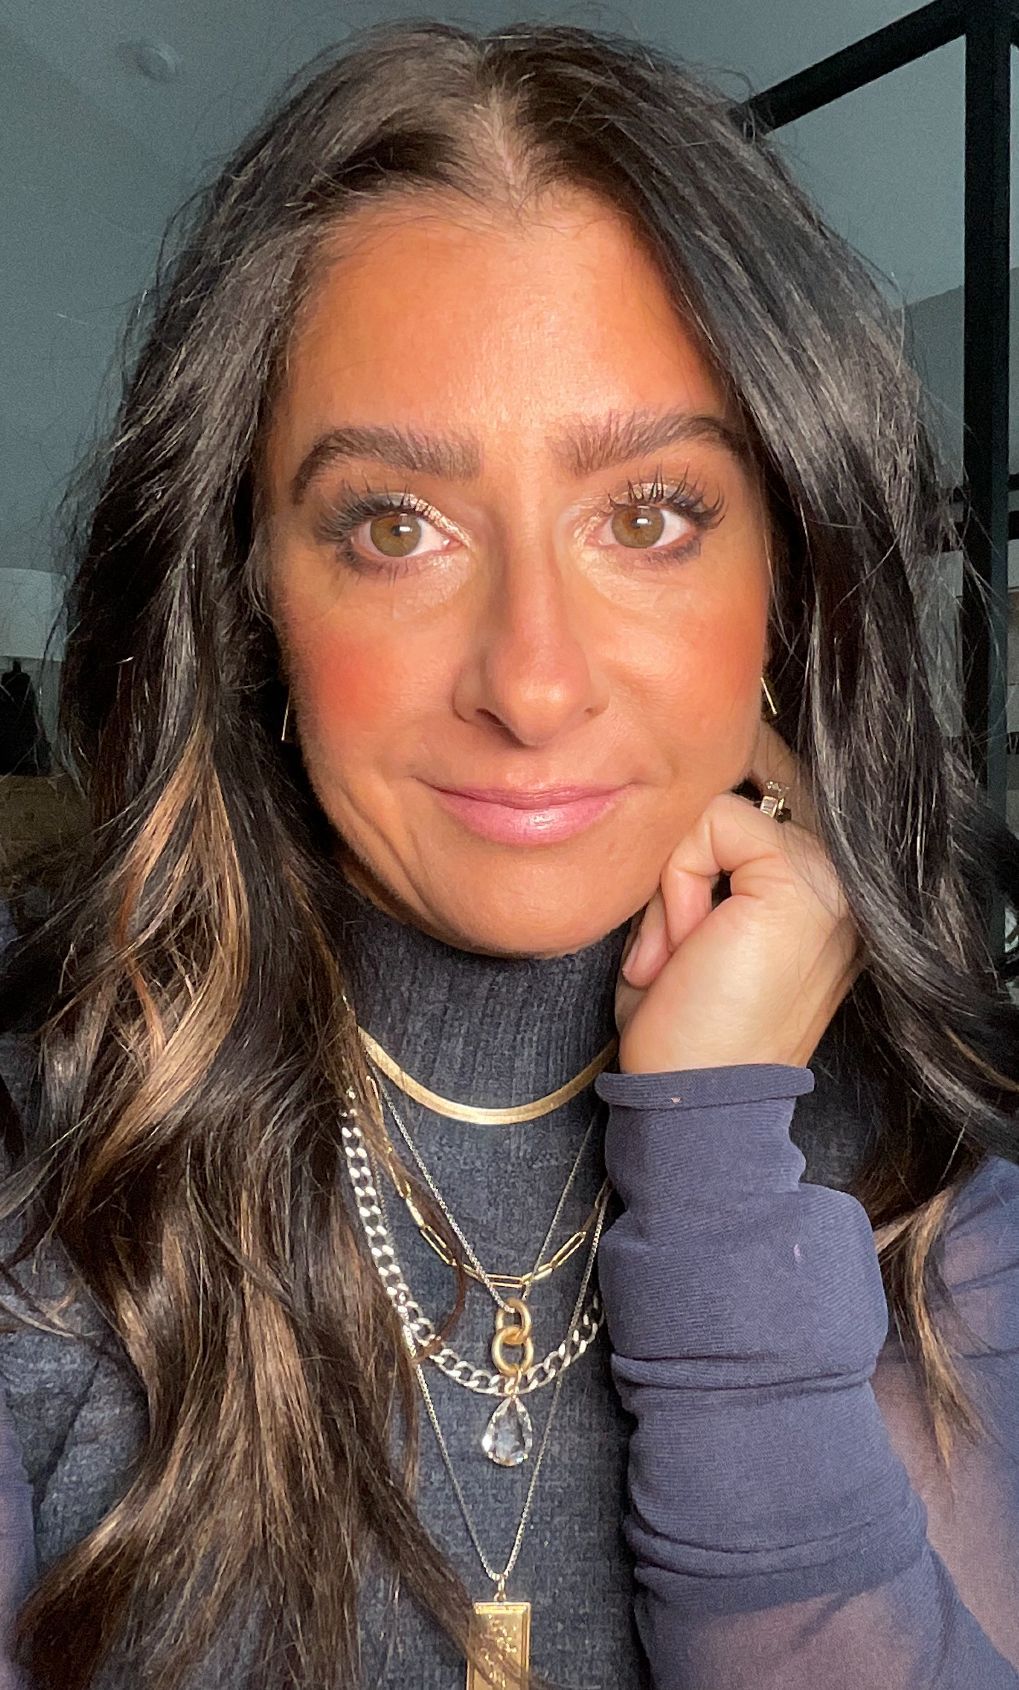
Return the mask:
MULTIPOLYGON (((747 434, 725 417, 703 411, 610 411, 591 421, 575 417, 551 439, 553 458, 576 478, 640 458, 662 446, 705 441, 725 448, 740 465, 750 461, 747 434)), ((482 473, 482 448, 470 434, 424 434, 387 424, 341 424, 306 451, 291 482, 301 504, 311 483, 335 463, 375 458, 397 470, 434 475, 443 482, 473 482, 482 473)))

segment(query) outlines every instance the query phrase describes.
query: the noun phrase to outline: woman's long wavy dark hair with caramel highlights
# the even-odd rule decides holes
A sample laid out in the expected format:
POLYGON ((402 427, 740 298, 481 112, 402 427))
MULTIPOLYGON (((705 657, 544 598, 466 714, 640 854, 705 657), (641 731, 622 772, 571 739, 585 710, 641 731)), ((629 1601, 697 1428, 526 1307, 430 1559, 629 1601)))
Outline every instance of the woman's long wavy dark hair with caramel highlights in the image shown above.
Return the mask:
POLYGON ((346 1685, 368 1550, 468 1644, 470 1597, 414 1509, 412 1374, 346 1193, 338 1112, 365 1075, 328 830, 281 744, 253 465, 326 233, 384 194, 526 210, 561 184, 630 220, 755 441, 777 727, 867 958, 840 1017, 885 1107, 855 1191, 943 1458, 977 1426, 929 1291, 951 1193, 989 1153, 1019 1159, 1012 962, 984 919, 992 887, 1019 904, 1019 848, 970 774, 958 673, 933 681, 950 521, 897 318, 744 112, 661 51, 568 25, 377 25, 302 73, 186 208, 79 488, 61 740, 88 860, 0 1014, 39 1039, 25 1247, 56 1240, 106 1311, 149 1435, 22 1609, 39 1687, 83 1690, 130 1629, 139 1682, 171 1690, 235 1612, 265 1624, 245 1682, 346 1685))

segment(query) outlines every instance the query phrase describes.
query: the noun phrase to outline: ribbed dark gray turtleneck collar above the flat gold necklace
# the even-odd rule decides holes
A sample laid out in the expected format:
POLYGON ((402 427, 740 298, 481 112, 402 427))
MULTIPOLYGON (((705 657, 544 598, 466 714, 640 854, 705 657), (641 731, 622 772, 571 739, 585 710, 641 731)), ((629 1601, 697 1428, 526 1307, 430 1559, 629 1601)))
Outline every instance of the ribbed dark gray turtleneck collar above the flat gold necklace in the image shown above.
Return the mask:
POLYGON ((615 1034, 629 921, 564 957, 493 957, 389 914, 343 872, 336 911, 358 1022, 444 1097, 478 1107, 544 1097, 615 1034))

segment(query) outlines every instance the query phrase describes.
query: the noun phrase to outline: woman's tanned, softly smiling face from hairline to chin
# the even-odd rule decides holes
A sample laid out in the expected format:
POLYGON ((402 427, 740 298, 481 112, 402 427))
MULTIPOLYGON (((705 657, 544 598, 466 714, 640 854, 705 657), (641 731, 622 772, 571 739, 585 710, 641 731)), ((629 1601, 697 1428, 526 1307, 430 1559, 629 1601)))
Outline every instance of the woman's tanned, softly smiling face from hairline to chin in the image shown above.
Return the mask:
POLYGON ((360 213, 264 444, 291 720, 351 877, 471 950, 618 926, 750 766, 769 607, 754 470, 627 225, 580 193, 360 213))

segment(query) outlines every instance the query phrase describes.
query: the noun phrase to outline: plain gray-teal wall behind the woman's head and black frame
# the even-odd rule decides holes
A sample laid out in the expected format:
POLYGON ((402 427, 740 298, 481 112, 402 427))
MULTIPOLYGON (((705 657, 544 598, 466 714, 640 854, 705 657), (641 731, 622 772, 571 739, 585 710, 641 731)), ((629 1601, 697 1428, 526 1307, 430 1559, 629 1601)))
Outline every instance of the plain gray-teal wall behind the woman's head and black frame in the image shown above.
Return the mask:
MULTIPOLYGON (((118 335, 171 210, 291 69, 346 27, 411 10, 373 3, 340 19, 319 0, 284 8, 275 0, 162 0, 159 8, 0 0, 0 571, 61 568, 57 500, 115 394, 118 335), (155 84, 132 69, 127 44, 147 32, 179 52, 176 81, 155 84)), ((782 0, 777 8, 635 0, 563 10, 468 3, 439 15, 475 27, 531 15, 617 29, 745 93, 907 10, 889 0, 782 0)), ((946 444, 958 455, 962 47, 804 118, 784 132, 782 147, 907 308, 946 444)), ((1014 428, 1019 465, 1019 407, 1014 428)), ((0 610, 3 598, 0 573, 0 610)))

